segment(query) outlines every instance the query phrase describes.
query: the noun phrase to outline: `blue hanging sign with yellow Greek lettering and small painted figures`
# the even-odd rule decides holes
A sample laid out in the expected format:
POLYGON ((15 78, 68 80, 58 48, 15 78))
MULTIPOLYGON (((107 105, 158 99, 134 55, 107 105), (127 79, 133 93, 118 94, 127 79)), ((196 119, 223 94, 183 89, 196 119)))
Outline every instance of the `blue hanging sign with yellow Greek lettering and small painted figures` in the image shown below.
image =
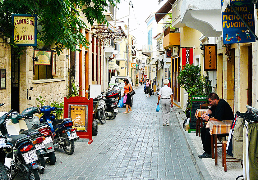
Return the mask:
MULTIPOLYGON (((223 6, 221 0, 221 5, 223 6)), ((250 0, 232 1, 230 2, 238 11, 240 16, 245 20, 247 25, 250 26, 253 32, 255 32, 254 24, 254 5, 250 0)), ((232 7, 228 6, 224 12, 222 12, 222 28, 223 28, 223 43, 250 43, 255 42, 255 37, 247 29, 246 25, 233 11, 232 7)))

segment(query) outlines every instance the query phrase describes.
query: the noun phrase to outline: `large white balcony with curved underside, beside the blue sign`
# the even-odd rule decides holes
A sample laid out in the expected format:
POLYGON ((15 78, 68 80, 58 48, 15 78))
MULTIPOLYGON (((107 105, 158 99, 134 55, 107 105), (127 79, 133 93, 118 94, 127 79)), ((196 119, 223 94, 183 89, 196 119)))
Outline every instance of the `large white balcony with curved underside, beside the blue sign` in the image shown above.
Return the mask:
POLYGON ((222 35, 221 0, 183 0, 180 16, 181 23, 197 29, 205 37, 222 35))

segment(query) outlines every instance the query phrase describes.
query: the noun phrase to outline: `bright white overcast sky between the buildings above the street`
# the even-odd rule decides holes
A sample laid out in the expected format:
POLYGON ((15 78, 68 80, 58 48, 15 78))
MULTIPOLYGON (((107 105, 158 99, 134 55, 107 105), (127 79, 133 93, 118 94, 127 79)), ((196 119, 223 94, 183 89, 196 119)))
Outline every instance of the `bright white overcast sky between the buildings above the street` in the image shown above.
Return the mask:
MULTIPOLYGON (((130 8, 130 16, 127 16, 129 14, 129 1, 121 0, 121 3, 117 4, 119 8, 119 10, 117 9, 117 20, 124 21, 127 25, 129 17, 129 34, 132 34, 136 38, 137 49, 141 49, 141 46, 148 42, 145 20, 150 16, 151 12, 155 13, 158 11, 167 0, 163 0, 160 4, 158 0, 131 0, 133 8, 130 8)), ((127 34, 127 32, 125 33, 127 34)), ((155 35, 153 34, 153 36, 155 35)))

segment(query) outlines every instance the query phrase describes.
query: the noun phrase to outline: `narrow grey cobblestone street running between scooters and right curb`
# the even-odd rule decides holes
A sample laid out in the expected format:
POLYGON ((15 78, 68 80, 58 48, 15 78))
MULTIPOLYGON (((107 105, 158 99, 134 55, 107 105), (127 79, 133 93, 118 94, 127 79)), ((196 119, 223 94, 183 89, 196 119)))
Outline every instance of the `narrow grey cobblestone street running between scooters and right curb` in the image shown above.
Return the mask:
POLYGON ((44 180, 68 179, 193 179, 199 175, 191 160, 175 112, 170 126, 162 126, 156 112, 157 97, 146 97, 143 86, 135 90, 133 112, 119 108, 115 120, 99 124, 98 135, 75 142, 75 152, 56 152, 55 165, 47 165, 44 180))

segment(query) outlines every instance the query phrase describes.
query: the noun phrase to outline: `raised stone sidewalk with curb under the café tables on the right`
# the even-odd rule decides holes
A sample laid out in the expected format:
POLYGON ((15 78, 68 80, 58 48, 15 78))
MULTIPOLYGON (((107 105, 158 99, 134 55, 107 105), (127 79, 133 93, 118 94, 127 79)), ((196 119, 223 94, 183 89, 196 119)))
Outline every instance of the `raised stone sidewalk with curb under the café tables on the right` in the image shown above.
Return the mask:
MULTIPOLYGON (((183 127, 183 120, 185 119, 185 113, 183 109, 176 109, 177 119, 181 127, 183 127)), ((227 163, 227 172, 224 172, 222 167, 222 148, 218 148, 218 166, 215 166, 214 159, 199 159, 198 155, 202 154, 203 146, 201 143, 201 137, 196 136, 196 132, 192 131, 188 133, 182 130, 187 140, 187 146, 189 147, 191 157, 196 165, 196 169, 200 172, 200 177, 205 180, 234 180, 237 176, 243 174, 243 169, 240 162, 227 163)), ((231 157, 227 155, 227 158, 231 157)))

